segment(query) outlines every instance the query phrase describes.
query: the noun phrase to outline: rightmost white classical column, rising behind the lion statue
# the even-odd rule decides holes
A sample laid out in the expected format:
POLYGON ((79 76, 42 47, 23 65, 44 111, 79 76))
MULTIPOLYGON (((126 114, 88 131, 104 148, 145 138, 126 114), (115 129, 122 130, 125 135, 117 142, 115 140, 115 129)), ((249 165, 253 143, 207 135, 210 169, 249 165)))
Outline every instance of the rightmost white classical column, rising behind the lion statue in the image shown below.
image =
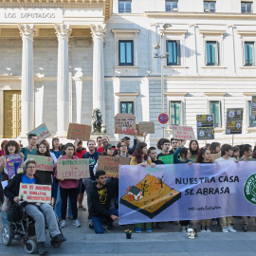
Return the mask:
POLYGON ((101 110, 102 121, 105 123, 103 58, 105 27, 91 26, 91 33, 93 35, 93 109, 101 110))

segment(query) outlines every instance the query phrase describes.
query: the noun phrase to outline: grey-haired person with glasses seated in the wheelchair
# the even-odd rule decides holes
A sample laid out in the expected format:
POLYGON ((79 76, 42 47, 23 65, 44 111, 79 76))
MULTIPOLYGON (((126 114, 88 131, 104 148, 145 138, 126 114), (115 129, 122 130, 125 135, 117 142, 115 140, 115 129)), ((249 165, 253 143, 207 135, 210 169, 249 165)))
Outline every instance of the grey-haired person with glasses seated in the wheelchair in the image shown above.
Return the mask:
MULTIPOLYGON (((19 203, 19 189, 20 183, 25 184, 42 184, 41 179, 35 175, 36 172, 36 161, 32 158, 28 158, 23 164, 24 173, 16 174, 10 181, 8 186, 4 190, 4 194, 11 202, 19 203)), ((58 225, 57 218, 52 207, 48 204, 39 203, 27 203, 25 207, 27 215, 29 215, 35 221, 35 232, 37 239, 38 253, 40 255, 45 255, 47 253, 46 249, 46 224, 52 238, 51 244, 57 245, 58 247, 66 239, 61 233, 58 225)))

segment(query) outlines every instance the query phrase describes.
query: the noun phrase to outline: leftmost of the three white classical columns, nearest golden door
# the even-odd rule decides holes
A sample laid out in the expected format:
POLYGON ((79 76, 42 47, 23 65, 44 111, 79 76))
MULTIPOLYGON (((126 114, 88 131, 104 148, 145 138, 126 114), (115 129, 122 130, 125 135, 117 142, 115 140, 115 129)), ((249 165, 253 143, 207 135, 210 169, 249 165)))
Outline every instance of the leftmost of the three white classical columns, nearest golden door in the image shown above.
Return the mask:
POLYGON ((21 135, 34 128, 34 80, 33 80, 33 37, 35 27, 31 24, 19 25, 22 36, 22 85, 21 85, 21 135))

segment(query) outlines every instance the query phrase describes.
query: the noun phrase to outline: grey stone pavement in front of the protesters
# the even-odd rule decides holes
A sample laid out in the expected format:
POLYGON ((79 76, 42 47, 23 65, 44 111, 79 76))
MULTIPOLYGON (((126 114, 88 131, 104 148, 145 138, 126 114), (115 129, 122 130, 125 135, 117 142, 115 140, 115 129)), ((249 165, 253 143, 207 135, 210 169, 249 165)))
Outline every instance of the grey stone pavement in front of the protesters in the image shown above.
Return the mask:
MULTIPOLYGON (((86 200, 86 199, 85 199, 86 200)), ((222 233, 219 226, 211 226, 211 233, 198 233, 194 239, 188 239, 186 233, 180 232, 180 226, 173 223, 165 223, 164 229, 153 229, 153 233, 133 233, 132 239, 125 238, 124 229, 132 229, 131 225, 119 226, 104 234, 95 234, 88 228, 87 211, 79 210, 81 228, 75 228, 71 220, 67 220, 68 226, 63 229, 67 241, 60 248, 50 247, 47 235, 46 246, 48 255, 93 255, 93 256, 243 256, 253 255, 256 251, 256 227, 253 218, 249 218, 249 231, 241 231, 241 220, 234 218, 236 233, 222 233)), ((197 221, 192 222, 192 228, 199 228, 197 221)), ((0 227, 2 229, 2 225, 0 227)), ((0 243, 0 255, 27 255, 23 243, 12 241, 9 247, 0 243)))

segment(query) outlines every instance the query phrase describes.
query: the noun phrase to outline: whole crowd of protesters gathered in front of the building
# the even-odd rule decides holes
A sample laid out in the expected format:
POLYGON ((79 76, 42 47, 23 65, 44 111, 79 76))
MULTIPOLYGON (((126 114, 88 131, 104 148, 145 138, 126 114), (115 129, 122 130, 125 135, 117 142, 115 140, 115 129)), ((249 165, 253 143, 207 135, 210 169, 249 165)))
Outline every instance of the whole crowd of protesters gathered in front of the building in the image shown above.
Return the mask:
MULTIPOLYGON (((174 137, 170 139, 161 138, 158 140, 156 148, 147 147, 145 143, 146 134, 143 141, 137 139, 137 134, 134 136, 133 147, 130 146, 130 137, 123 137, 117 145, 109 142, 109 137, 97 137, 97 140, 88 140, 87 148, 83 147, 82 141, 78 138, 74 143, 66 143, 62 145, 58 137, 52 138, 50 146, 46 140, 37 143, 36 135, 29 134, 27 137, 27 147, 20 148, 20 144, 15 140, 4 140, 1 144, 0 157, 0 173, 1 181, 8 180, 9 185, 3 190, 0 188, 0 200, 3 203, 5 198, 9 198, 14 202, 18 202, 17 186, 13 190, 13 184, 17 182, 23 183, 38 183, 51 185, 52 209, 55 211, 60 226, 66 226, 67 218, 73 220, 73 225, 76 228, 81 227, 78 218, 78 212, 86 210, 83 207, 84 192, 87 194, 87 209, 88 218, 90 219, 89 227, 94 229, 96 233, 103 233, 114 229, 113 222, 119 219, 119 179, 108 178, 102 170, 98 170, 99 155, 110 155, 119 157, 130 157, 131 165, 141 165, 146 167, 151 165, 152 168, 159 164, 192 164, 192 163, 220 163, 233 161, 252 161, 256 160, 256 147, 253 149, 251 145, 237 145, 232 147, 229 144, 221 145, 218 142, 212 142, 205 147, 200 148, 196 140, 191 140, 189 146, 186 147, 186 140, 177 140, 174 137), (157 154, 157 152, 159 152, 157 154), (14 155, 20 153, 24 160, 23 170, 20 170, 14 178, 9 180, 6 155, 14 155), (27 159, 27 155, 45 155, 51 156, 54 163, 54 171, 44 172, 36 171, 36 162, 31 158, 27 159), (57 159, 76 159, 88 158, 90 178, 85 179, 58 179, 57 174, 57 159), (29 172, 27 172, 27 170, 29 172), (26 174, 26 175, 25 175, 26 174), (68 209, 67 209, 68 208, 68 209)), ((36 224, 40 222, 40 217, 36 210, 31 206, 26 207, 27 214, 32 215, 36 224)), ((46 207, 41 207, 44 213, 46 207)), ((50 211, 51 212, 51 211, 50 211)), ((52 212, 50 213, 52 214, 52 212)), ((2 211, 3 225, 8 223, 7 215, 2 211)), ((52 215, 50 215, 52 216, 52 215)), ((221 226, 223 232, 235 232, 232 228, 232 217, 222 217, 219 219, 200 220, 200 230, 202 232, 210 232, 210 225, 221 226)), ((247 231, 247 217, 242 217, 242 230, 247 231)), ((181 231, 186 231, 190 228, 190 220, 179 222, 181 231)), ((56 241, 64 242, 64 237, 57 231, 56 223, 49 223, 53 227, 53 237, 56 241), (56 238, 57 237, 57 238, 56 238)), ((152 232, 153 227, 162 229, 163 223, 137 223, 134 228, 137 233, 140 233, 143 228, 147 232, 152 232)), ((44 227, 38 228, 38 232, 42 232, 44 227)), ((45 236, 37 234, 37 242, 41 243, 40 247, 45 247, 45 236), (43 243, 43 244, 42 244, 43 243), (42 246, 43 245, 43 246, 42 246)), ((42 251, 46 252, 46 247, 42 251)))

